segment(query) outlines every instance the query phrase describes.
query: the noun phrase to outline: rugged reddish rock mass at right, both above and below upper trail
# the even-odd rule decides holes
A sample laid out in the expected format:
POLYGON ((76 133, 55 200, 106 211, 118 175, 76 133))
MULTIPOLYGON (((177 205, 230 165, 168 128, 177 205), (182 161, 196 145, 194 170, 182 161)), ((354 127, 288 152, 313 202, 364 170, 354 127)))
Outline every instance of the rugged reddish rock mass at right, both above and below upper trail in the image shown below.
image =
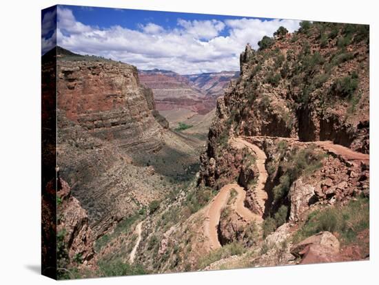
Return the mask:
MULTIPOLYGON (((265 217, 285 206, 286 219, 296 222, 311 204, 368 195, 368 156, 357 155, 369 152, 367 35, 367 26, 313 23, 307 32, 275 37, 259 50, 247 45, 240 54, 240 77, 218 98, 199 183, 219 189, 238 179, 243 160, 228 142, 240 136, 259 140, 267 154, 265 217), (337 36, 320 47, 320 34, 331 30, 337 36), (342 39, 349 41, 341 45, 342 39), (316 156, 311 155, 311 142, 316 143, 316 156), (340 155, 323 142, 355 154, 340 155), (306 162, 296 162, 297 154, 305 155, 306 162), (319 161, 313 169, 299 169, 312 160, 319 161), (327 184, 320 184, 324 180, 327 184)), ((240 182, 246 179, 239 177, 240 182)), ((245 200, 250 209, 252 194, 247 191, 245 200)))

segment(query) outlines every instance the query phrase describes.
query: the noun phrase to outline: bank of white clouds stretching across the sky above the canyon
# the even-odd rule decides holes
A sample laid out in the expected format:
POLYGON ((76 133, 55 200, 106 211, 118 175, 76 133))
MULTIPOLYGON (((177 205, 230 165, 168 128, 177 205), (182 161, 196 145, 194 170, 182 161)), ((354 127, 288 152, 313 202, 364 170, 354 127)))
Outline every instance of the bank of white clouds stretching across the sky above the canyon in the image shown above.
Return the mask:
POLYGON ((263 36, 272 36, 280 25, 293 32, 299 21, 260 19, 186 21, 165 30, 155 23, 139 30, 119 25, 98 28, 76 21, 72 11, 58 10, 58 45, 80 54, 95 54, 136 65, 181 74, 239 70, 239 54, 246 43, 257 47, 263 36), (221 34, 223 32, 223 34, 221 34))

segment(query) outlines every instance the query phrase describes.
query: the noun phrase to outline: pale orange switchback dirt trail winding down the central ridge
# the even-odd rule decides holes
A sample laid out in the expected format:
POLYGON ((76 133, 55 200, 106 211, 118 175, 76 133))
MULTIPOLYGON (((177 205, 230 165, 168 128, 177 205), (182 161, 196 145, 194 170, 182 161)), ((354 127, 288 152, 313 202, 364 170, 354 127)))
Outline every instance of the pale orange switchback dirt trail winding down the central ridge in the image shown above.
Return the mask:
MULTIPOLYGON (((254 193, 259 206, 263 209, 264 212, 265 200, 267 200, 267 193, 265 192, 265 182, 267 180, 267 171, 265 169, 265 152, 259 149, 259 147, 256 145, 243 140, 243 138, 234 138, 231 143, 234 145, 234 147, 237 148, 249 147, 249 149, 254 151, 257 156, 256 165, 259 171, 259 178, 254 193)), ((247 222, 251 222, 252 220, 256 220, 256 222, 263 221, 262 217, 256 215, 245 207, 244 201, 246 197, 246 191, 243 189, 243 187, 240 187, 240 185, 237 183, 225 185, 223 188, 221 188, 216 197, 214 197, 210 202, 205 214, 206 218, 204 223, 204 231, 205 236, 209 237, 211 249, 218 249, 221 247, 221 244, 218 241, 217 227, 220 222, 221 211, 227 204, 229 193, 232 189, 235 189, 237 191, 236 201, 233 204, 233 208, 235 209, 236 213, 247 222)))

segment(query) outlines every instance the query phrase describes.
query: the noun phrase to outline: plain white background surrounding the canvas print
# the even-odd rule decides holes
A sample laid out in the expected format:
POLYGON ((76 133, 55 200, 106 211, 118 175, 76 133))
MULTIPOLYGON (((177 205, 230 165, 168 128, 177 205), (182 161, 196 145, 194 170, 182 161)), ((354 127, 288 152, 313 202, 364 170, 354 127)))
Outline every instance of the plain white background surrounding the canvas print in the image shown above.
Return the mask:
MULTIPOLYGON (((378 276, 378 20, 375 1, 64 1, 64 4, 203 12, 251 17, 369 23, 371 36, 371 257, 369 262, 252 268, 206 273, 114 277, 74 284, 372 284, 378 276)), ((63 4, 61 3, 61 4, 63 4)), ((55 1, 4 1, 1 21, 0 282, 50 284, 40 262, 41 9, 55 1)), ((242 52, 242 51, 241 51, 242 52)))

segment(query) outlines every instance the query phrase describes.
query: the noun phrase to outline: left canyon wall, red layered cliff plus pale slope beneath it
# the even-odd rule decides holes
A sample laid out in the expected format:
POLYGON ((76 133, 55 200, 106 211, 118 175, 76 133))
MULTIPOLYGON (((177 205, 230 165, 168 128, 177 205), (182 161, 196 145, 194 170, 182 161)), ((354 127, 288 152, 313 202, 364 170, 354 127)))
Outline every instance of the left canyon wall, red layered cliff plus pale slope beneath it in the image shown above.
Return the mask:
POLYGON ((164 196, 160 175, 132 156, 160 151, 167 120, 136 67, 57 47, 59 175, 88 212, 97 238, 164 196), (156 187, 141 180, 150 177, 156 187))

